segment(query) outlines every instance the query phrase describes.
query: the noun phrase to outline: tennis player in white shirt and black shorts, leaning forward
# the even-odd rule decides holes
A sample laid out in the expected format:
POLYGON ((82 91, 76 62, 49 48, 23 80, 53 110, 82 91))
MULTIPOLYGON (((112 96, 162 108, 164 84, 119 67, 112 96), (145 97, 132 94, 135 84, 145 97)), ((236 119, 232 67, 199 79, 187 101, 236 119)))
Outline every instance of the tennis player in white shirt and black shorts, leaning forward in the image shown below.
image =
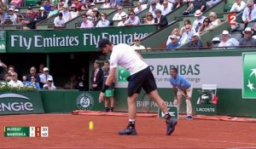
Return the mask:
POLYGON ((135 117, 137 113, 137 96, 140 94, 142 88, 160 107, 160 110, 165 113, 166 118, 166 135, 171 135, 177 124, 177 120, 172 120, 168 112, 164 100, 158 95, 154 76, 150 71, 148 64, 143 61, 143 57, 138 54, 130 45, 119 43, 113 45, 107 38, 102 38, 98 43, 98 48, 102 49, 103 54, 110 54, 110 72, 106 83, 99 96, 99 100, 103 100, 104 92, 115 80, 115 71, 118 66, 123 66, 131 73, 128 80, 128 112, 129 123, 126 129, 119 131, 119 135, 137 135, 135 128, 135 117))

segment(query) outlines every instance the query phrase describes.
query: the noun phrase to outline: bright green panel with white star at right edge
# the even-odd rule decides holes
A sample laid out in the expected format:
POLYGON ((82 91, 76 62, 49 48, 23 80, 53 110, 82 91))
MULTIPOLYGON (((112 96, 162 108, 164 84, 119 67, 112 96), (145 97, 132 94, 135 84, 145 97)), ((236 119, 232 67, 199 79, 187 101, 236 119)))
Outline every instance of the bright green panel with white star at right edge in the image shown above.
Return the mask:
POLYGON ((256 98, 256 53, 242 54, 242 98, 256 98))

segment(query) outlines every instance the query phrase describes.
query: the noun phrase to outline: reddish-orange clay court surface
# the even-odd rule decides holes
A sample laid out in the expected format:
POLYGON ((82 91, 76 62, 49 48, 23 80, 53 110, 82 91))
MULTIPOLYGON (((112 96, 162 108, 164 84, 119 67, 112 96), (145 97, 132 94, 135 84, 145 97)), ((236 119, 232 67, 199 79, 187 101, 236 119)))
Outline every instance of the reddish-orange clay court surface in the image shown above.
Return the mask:
POLYGON ((179 119, 166 136, 164 119, 137 117, 137 136, 119 136, 127 117, 71 114, 1 117, 0 148, 256 148, 256 123, 179 119), (93 121, 94 129, 89 130, 93 121), (4 126, 48 126, 48 138, 4 137, 4 126))

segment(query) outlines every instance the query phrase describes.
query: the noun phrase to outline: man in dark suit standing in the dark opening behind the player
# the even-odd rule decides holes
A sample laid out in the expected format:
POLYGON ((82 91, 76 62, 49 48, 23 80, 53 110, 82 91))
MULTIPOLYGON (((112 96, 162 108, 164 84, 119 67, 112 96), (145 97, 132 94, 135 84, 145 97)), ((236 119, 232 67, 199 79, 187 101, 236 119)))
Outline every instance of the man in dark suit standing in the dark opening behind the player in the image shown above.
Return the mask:
POLYGON ((96 60, 90 76, 90 83, 93 91, 102 90, 102 78, 102 69, 100 68, 100 63, 96 60))

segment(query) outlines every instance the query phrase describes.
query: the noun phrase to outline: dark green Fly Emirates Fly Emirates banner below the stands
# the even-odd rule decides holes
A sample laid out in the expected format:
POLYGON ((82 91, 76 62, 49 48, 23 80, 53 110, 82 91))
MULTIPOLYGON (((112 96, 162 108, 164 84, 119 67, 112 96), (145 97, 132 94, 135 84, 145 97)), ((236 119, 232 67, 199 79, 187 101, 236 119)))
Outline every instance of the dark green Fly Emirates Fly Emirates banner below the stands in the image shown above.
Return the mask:
POLYGON ((113 44, 133 43, 157 26, 100 27, 84 30, 8 31, 8 53, 50 53, 96 51, 98 41, 107 37, 113 44))

